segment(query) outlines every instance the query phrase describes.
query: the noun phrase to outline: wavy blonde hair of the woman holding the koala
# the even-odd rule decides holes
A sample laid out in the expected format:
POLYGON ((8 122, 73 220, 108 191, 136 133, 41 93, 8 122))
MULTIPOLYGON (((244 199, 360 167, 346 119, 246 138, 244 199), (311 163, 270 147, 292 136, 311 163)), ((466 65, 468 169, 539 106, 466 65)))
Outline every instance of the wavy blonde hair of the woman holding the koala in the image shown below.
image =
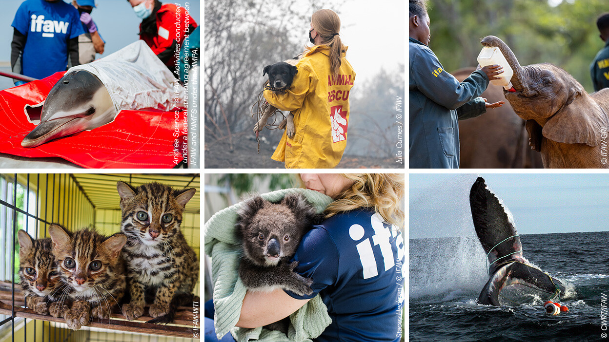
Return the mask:
MULTIPOLYGON (((340 194, 336 201, 328 204, 324 211, 325 218, 333 217, 343 211, 370 208, 381 215, 385 222, 396 225, 399 229, 403 227, 404 211, 401 209, 405 185, 403 174, 341 173, 340 175, 353 181, 353 185, 340 194)), ((300 185, 304 187, 302 180, 300 185)))

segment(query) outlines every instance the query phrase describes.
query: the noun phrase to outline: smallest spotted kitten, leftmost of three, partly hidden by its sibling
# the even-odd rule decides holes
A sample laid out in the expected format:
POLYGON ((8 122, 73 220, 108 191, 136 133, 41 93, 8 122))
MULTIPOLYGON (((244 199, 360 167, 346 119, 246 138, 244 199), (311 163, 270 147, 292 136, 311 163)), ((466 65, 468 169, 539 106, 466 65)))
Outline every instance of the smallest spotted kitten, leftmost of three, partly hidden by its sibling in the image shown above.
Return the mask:
POLYGON ((65 310, 57 303, 60 295, 60 276, 51 248, 51 238, 34 240, 26 231, 19 230, 19 277, 26 296, 26 305, 41 315, 51 313, 60 317, 65 310))

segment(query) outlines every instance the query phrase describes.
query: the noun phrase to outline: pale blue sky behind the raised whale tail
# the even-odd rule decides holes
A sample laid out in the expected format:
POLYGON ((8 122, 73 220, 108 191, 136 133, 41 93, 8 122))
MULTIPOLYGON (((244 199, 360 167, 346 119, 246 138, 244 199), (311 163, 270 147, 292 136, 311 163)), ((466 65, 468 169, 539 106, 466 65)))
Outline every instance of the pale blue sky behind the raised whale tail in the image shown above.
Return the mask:
MULTIPOLYGON (((475 236, 469 194, 476 174, 411 174, 410 238, 475 236)), ((519 234, 608 231, 606 174, 483 174, 519 234)))

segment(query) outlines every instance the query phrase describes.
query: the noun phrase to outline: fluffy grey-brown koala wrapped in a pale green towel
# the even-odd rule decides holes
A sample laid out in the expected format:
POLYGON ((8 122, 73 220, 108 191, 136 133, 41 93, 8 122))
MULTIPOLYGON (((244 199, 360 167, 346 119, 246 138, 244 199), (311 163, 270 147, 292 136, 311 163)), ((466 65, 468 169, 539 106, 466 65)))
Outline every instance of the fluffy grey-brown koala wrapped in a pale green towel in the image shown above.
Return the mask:
POLYGON ((238 211, 236 234, 243 244, 239 277, 251 291, 283 288, 297 295, 311 295, 312 280, 294 272, 289 262, 300 240, 323 215, 301 194, 287 194, 280 203, 259 195, 245 201, 238 211))

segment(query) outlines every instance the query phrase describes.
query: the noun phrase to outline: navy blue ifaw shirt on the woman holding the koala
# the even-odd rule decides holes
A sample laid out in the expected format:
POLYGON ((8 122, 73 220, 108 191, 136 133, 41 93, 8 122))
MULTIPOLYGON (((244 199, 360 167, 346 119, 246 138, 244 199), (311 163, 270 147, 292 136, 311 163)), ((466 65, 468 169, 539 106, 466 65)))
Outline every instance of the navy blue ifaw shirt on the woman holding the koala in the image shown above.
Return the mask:
POLYGON ((371 211, 337 214, 314 226, 294 256, 313 279, 332 323, 317 342, 400 341, 404 304, 404 236, 371 211))

